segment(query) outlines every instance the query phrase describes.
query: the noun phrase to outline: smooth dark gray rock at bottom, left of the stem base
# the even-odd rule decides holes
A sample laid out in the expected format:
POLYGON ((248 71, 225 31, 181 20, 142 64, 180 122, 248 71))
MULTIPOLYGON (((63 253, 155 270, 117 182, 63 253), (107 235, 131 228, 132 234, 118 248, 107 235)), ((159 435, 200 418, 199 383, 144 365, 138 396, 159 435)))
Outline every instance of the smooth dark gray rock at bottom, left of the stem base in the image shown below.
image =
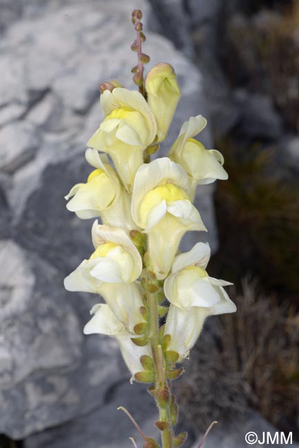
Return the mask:
POLYGON ((130 437, 141 446, 141 436, 129 418, 117 410, 118 406, 130 411, 146 436, 158 438, 158 430, 154 427, 157 418, 154 400, 144 385, 130 385, 125 380, 108 391, 103 407, 63 427, 33 434, 25 440, 25 448, 132 448, 130 437))

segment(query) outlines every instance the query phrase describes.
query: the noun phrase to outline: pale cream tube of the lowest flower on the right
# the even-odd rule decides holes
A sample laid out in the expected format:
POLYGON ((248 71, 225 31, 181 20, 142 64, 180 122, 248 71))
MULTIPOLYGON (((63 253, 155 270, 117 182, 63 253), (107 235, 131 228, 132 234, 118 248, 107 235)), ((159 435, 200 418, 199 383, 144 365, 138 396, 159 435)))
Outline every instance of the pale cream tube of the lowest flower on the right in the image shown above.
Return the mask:
POLYGON ((168 350, 179 355, 179 361, 189 356, 207 317, 205 308, 180 309, 170 305, 166 318, 164 334, 171 336, 168 350))

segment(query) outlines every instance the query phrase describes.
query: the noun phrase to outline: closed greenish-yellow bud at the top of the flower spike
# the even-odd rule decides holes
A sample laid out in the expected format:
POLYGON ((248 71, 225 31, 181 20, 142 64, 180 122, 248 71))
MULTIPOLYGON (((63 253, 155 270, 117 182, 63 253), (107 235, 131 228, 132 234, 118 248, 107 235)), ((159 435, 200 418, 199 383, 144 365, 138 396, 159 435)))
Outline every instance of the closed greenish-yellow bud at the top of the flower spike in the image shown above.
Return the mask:
POLYGON ((172 65, 158 63, 149 70, 145 78, 147 103, 157 123, 158 142, 165 140, 169 125, 181 96, 172 65))

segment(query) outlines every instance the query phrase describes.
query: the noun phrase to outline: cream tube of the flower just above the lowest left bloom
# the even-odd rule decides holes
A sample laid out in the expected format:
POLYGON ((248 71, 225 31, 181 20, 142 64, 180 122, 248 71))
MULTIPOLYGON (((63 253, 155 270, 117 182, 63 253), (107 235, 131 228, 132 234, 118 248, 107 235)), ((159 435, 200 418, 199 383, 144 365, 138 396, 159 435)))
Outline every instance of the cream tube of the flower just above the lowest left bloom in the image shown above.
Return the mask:
POLYGON ((143 307, 140 285, 137 282, 105 283, 101 286, 100 294, 127 331, 134 335, 134 326, 145 321, 140 311, 143 307))

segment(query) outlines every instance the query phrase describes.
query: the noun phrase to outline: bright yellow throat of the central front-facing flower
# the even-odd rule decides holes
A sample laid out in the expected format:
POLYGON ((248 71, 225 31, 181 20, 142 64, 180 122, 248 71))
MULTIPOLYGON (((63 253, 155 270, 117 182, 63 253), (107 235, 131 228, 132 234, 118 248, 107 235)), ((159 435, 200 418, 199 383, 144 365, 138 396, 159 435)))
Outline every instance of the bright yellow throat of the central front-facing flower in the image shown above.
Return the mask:
POLYGON ((166 183, 160 187, 156 187, 145 194, 140 207, 141 220, 146 223, 147 216, 153 207, 161 201, 172 203, 174 201, 189 201, 189 196, 181 188, 176 187, 172 183, 166 183))

